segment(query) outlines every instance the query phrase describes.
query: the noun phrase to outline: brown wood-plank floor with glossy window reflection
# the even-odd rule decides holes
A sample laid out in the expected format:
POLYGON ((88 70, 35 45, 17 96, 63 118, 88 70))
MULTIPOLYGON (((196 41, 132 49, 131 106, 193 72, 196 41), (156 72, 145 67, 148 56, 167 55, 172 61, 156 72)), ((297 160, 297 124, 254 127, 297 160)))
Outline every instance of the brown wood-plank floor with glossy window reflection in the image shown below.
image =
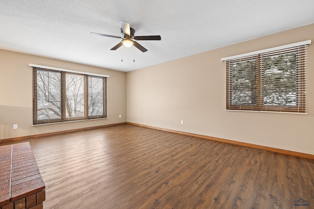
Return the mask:
POLYGON ((44 209, 314 209, 314 160, 128 124, 28 141, 44 209))

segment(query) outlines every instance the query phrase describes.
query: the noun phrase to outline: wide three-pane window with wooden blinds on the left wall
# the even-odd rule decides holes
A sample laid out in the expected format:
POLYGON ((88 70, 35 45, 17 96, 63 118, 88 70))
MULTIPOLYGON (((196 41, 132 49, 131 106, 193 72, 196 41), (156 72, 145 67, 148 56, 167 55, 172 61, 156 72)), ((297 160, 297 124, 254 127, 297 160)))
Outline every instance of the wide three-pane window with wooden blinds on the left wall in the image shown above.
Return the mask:
POLYGON ((106 75, 32 65, 33 125, 106 117, 106 75))

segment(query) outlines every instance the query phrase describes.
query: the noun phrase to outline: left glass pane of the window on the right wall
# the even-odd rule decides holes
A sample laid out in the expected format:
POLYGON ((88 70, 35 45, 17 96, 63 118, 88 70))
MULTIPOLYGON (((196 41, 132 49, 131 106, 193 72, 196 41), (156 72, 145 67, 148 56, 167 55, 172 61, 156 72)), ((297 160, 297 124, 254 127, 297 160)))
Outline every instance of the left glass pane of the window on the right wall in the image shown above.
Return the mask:
POLYGON ((257 60, 231 63, 232 105, 257 104, 257 60))

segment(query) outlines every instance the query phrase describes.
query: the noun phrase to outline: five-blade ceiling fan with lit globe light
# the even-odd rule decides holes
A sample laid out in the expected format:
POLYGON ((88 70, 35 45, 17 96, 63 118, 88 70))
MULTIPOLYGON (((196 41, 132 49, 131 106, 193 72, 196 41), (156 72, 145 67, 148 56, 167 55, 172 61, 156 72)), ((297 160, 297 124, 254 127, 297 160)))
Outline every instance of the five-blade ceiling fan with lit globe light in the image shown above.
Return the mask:
POLYGON ((145 52, 145 51, 147 51, 147 49, 144 46, 138 44, 136 41, 152 41, 152 40, 160 41, 161 40, 160 36, 134 36, 135 30, 130 27, 130 23, 125 22, 125 21, 120 21, 120 23, 121 23, 121 29, 120 29, 121 37, 120 36, 106 35, 106 34, 102 34, 102 33, 93 33, 93 32, 91 32, 91 34, 98 35, 98 36, 106 36, 106 37, 111 37, 111 38, 122 39, 122 41, 119 44, 117 44, 116 46, 113 46, 110 50, 116 50, 120 46, 124 45, 127 47, 135 46, 136 48, 138 48, 142 52, 145 52), (132 39, 134 39, 136 41, 133 41, 132 39))

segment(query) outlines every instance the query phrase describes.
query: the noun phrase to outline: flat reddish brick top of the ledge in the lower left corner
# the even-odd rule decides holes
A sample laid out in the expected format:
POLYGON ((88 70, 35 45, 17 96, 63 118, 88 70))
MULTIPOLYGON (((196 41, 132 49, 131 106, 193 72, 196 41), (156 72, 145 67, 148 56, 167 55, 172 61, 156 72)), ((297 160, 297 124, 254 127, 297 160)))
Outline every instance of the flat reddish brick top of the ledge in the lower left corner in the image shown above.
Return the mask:
POLYGON ((0 206, 43 189, 29 142, 0 146, 0 206))

